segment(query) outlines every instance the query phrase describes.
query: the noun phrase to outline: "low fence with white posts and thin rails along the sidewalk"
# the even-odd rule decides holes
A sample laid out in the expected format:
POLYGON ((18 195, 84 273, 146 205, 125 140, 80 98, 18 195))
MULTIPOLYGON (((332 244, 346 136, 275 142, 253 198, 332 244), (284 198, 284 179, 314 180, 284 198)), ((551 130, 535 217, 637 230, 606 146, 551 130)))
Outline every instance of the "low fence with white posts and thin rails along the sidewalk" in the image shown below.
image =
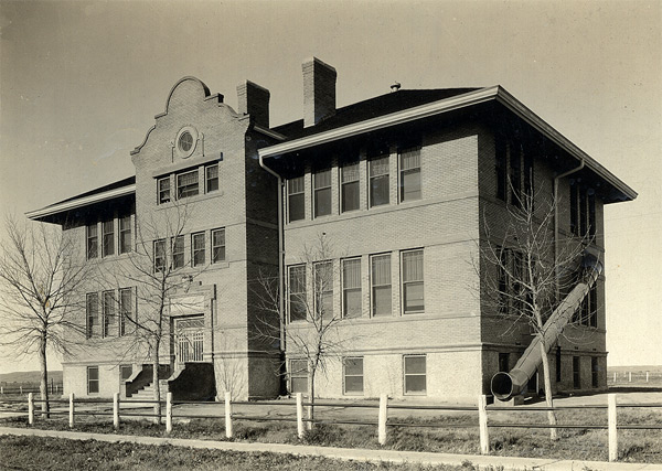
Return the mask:
MULTIPOLYGON (((68 399, 51 399, 49 405, 51 410, 47 413, 35 411, 35 405, 43 404, 43 400, 34 398, 33 393, 28 394, 28 400, 24 399, 2 399, 0 400, 0 411, 14 411, 11 406, 22 406, 23 410, 18 414, 28 416, 28 424, 34 425, 35 419, 40 417, 67 415, 70 428, 74 428, 76 424, 76 417, 81 416, 100 416, 100 417, 113 417, 113 426, 115 429, 119 428, 120 420, 122 417, 145 417, 154 419, 161 424, 161 419, 166 421, 166 431, 172 432, 174 419, 223 419, 225 436, 228 439, 234 438, 234 424, 236 421, 285 421, 296 422, 297 435, 299 438, 303 438, 307 430, 311 430, 314 424, 329 424, 329 425, 356 425, 356 426, 371 426, 377 427, 377 440, 378 443, 384 446, 388 437, 388 428, 393 427, 412 427, 412 428, 478 428, 479 430, 479 446, 482 454, 490 453, 490 429, 494 428, 526 428, 526 429, 587 429, 587 430, 607 430, 609 439, 609 461, 618 460, 618 430, 662 430, 660 424, 619 424, 617 419, 617 408, 660 408, 662 409, 662 403, 647 403, 647 404, 618 404, 617 395, 608 395, 607 405, 586 405, 586 406, 557 406, 557 407, 488 407, 488 397, 481 395, 478 397, 477 406, 452 406, 452 405, 413 405, 413 404, 395 404, 389 403, 386 395, 382 395, 377 402, 323 402, 323 400, 303 400, 303 396, 299 393, 296 395, 296 402, 267 402, 267 400, 232 400, 229 393, 225 394, 225 400, 220 403, 210 402, 196 402, 196 400, 172 400, 172 394, 169 393, 166 400, 142 400, 142 399, 121 399, 119 394, 115 394, 111 400, 109 399, 82 399, 75 398, 74 394, 71 394, 68 399), (28 410, 24 410, 25 404, 28 410), (160 405, 160 413, 157 413, 157 406, 160 405), (217 414, 188 414, 182 410, 173 410, 173 406, 185 406, 185 405, 205 405, 205 406, 217 406, 217 414), (58 407, 60 406, 60 407, 58 407), (64 407, 63 407, 64 406, 64 407), (290 416, 273 416, 273 415, 247 415, 237 414, 233 411, 234 406, 269 406, 289 408, 290 416), (3 409, 4 407, 4 409, 3 409), (8 408, 10 407, 10 408, 8 408), (153 410, 147 411, 146 408, 152 408, 153 410), (328 418, 309 418, 305 416, 305 410, 309 408, 324 408, 324 407, 342 407, 342 408, 363 408, 374 409, 375 418, 373 420, 360 420, 360 419, 328 419, 328 418), (295 410, 292 410, 295 408, 295 410), (578 409, 601 409, 607 413, 607 424, 525 424, 525 422, 500 422, 490 419, 490 414, 495 411, 509 413, 516 415, 521 411, 560 411, 560 410, 578 410, 578 409), (420 421, 406 421, 391 417, 388 411, 395 410, 439 410, 439 411, 461 411, 472 413, 478 415, 478 424, 476 421, 445 421, 445 422, 420 422, 420 421)), ((471 416, 471 414, 469 414, 471 416)), ((462 416, 465 417, 465 416, 462 416)))

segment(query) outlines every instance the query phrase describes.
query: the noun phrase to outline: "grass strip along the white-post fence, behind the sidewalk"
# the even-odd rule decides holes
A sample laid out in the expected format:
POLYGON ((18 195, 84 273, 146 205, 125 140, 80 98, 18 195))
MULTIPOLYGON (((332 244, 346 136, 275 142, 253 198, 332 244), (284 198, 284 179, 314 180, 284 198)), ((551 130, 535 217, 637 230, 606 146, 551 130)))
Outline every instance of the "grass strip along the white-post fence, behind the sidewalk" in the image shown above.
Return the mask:
MULTIPOLYGON (((490 422, 545 424, 544 411, 490 413, 490 422)), ((604 409, 562 410, 558 422, 564 425, 606 425, 604 409)), ((109 433, 113 426, 109 417, 81 417, 75 430, 109 433)), ((399 424, 416 427, 388 427, 388 441, 384 448, 407 451, 431 451, 449 453, 479 453, 478 420, 474 415, 438 416, 426 418, 397 419, 399 424), (469 424, 469 428, 455 428, 469 424)), ((25 418, 0 420, 13 427, 28 427, 25 418)), ((661 409, 619 410, 619 425, 662 425, 661 409)), ((36 416, 36 428, 68 430, 66 417, 54 416, 41 419, 36 416)), ((279 421, 235 421, 237 441, 260 441, 276 443, 306 443, 316 446, 375 449, 377 430, 373 426, 316 425, 303 440, 296 433, 296 425, 279 421)), ((131 420, 120 424, 119 433, 166 437, 164 426, 146 420, 131 420)), ((560 439, 549 440, 547 429, 490 428, 491 453, 528 458, 558 458, 607 461, 607 430, 587 428, 562 429, 560 439)), ((226 440, 222 419, 192 419, 175 422, 173 438, 195 438, 226 440)), ((619 430, 620 460, 630 462, 662 463, 662 430, 619 430)))

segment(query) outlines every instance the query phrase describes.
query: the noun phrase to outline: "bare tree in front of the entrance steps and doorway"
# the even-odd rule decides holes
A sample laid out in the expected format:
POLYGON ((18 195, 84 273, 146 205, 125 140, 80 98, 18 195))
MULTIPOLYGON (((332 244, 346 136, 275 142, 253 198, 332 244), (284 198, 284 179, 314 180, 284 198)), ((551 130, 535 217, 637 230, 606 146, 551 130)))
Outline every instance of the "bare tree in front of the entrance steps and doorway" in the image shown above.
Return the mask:
POLYGON ((174 202, 172 207, 158 217, 141 218, 137 224, 135 253, 131 253, 125 264, 118 264, 115 270, 107 274, 105 280, 106 285, 110 281, 120 288, 136 288, 136 315, 130 310, 122 309, 121 297, 116 300, 119 322, 131 331, 116 346, 121 349, 124 357, 142 356, 150 361, 153 398, 157 402, 154 416, 158 422, 161 421, 161 355, 169 347, 173 334, 170 328, 172 298, 186 292, 202 272, 202 268, 196 265, 204 266, 204 260, 195 263, 199 255, 204 257, 204 248, 196 250, 193 247, 192 259, 185 261, 184 234, 190 216, 189 206, 174 202), (111 279, 108 280, 108 277, 111 279))

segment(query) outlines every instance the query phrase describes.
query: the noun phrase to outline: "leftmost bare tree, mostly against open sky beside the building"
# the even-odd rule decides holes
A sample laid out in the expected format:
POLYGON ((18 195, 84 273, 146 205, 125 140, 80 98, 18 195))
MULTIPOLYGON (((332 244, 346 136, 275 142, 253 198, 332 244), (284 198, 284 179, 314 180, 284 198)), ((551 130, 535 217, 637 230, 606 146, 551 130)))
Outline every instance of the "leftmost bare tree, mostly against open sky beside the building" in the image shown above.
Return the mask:
POLYGON ((85 325, 76 315, 89 270, 61 227, 6 220, 8 244, 0 256, 0 344, 12 356, 36 354, 42 411, 49 404, 49 350, 70 353, 85 325))

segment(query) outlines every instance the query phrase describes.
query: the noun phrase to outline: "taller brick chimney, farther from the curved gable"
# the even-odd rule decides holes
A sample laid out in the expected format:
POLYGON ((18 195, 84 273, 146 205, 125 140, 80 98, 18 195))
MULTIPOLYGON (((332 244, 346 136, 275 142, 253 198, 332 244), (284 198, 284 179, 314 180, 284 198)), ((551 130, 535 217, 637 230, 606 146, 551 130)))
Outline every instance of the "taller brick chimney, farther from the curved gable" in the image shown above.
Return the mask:
POLYGON ((312 57, 303 69, 303 127, 314 126, 335 114, 335 68, 312 57))

